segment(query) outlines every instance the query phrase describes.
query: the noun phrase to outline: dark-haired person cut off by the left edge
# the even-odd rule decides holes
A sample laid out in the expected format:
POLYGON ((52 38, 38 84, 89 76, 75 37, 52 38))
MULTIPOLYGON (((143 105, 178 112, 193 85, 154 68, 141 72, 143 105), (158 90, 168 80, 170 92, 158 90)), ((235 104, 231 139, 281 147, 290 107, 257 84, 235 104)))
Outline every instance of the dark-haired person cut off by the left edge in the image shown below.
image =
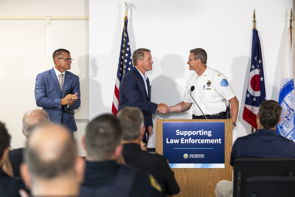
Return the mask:
POLYGON ((25 189, 24 183, 20 178, 10 177, 2 168, 8 160, 9 144, 10 135, 0 122, 0 196, 19 196, 18 189, 25 189))

